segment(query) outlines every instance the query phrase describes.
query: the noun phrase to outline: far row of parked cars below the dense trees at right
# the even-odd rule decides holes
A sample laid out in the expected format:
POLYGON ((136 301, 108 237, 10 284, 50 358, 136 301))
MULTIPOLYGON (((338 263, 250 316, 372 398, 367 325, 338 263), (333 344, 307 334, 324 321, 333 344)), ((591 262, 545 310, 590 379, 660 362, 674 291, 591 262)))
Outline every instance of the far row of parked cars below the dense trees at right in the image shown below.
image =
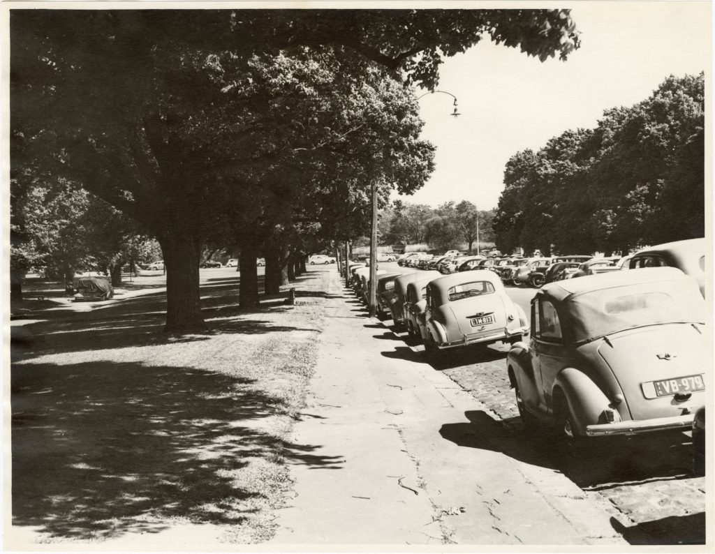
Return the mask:
POLYGON ((566 255, 552 257, 485 257, 450 251, 443 256, 428 256, 422 252, 405 254, 398 264, 417 269, 434 269, 441 274, 489 269, 502 282, 516 287, 531 285, 539 288, 551 282, 587 275, 610 273, 641 267, 678 267, 692 275, 704 292, 704 239, 689 239, 658 244, 628 256, 593 257, 566 255))

